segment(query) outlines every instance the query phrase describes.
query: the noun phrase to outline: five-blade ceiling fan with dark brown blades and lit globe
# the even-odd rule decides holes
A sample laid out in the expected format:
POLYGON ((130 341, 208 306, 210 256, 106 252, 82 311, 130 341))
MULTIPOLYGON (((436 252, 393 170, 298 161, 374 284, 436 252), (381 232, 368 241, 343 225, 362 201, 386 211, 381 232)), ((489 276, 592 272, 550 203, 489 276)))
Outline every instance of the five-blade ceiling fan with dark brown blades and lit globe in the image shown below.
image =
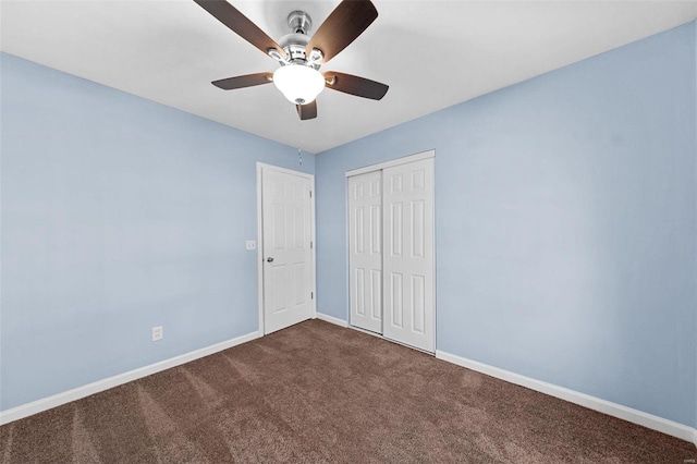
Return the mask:
POLYGON ((293 11, 288 16, 291 34, 278 42, 225 0, 194 1, 281 64, 273 73, 246 74, 212 82, 223 90, 273 83, 285 98, 295 103, 302 120, 317 118, 315 98, 325 87, 374 100, 381 99, 388 91, 387 85, 365 77, 318 71, 378 17, 370 0, 343 0, 311 37, 308 35, 313 25, 309 15, 304 11, 293 11))

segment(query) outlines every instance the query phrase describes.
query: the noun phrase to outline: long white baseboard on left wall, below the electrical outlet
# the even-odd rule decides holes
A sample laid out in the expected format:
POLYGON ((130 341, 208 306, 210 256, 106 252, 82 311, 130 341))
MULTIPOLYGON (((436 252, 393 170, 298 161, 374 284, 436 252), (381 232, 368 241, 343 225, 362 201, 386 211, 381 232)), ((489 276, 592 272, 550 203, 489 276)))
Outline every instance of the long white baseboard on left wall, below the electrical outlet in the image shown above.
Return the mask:
POLYGON ((216 343, 215 345, 195 350, 180 356, 170 357, 169 359, 160 361, 158 363, 150 364, 149 366, 139 367, 137 369, 119 374, 113 377, 108 377, 102 380, 97 380, 96 382, 88 383, 83 387, 77 387, 62 393, 42 398, 30 403, 22 404, 10 410, 0 411, 0 425, 9 424, 11 422, 50 410, 52 407, 60 406, 61 404, 70 403, 71 401, 80 400, 81 398, 99 393, 100 391, 105 391, 110 388, 118 387, 120 384, 127 383, 130 381, 137 380, 152 374, 157 374, 161 370, 180 366, 194 359, 198 359, 199 357, 208 356, 210 354, 218 353, 219 351, 228 350, 229 347, 252 341, 254 339, 258 339, 259 337, 259 332, 255 331, 245 335, 227 340, 224 342, 216 343))

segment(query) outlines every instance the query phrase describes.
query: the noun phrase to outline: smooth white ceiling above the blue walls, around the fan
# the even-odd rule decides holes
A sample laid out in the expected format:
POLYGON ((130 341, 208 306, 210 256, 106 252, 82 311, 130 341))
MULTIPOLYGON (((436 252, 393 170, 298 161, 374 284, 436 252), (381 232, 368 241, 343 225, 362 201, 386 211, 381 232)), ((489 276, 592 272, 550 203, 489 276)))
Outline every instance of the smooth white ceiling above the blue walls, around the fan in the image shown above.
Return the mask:
MULTIPOLYGON (((292 10, 313 30, 338 0, 231 1, 272 38, 292 10)), ((3 51, 320 152, 697 17, 697 1, 374 0, 375 23, 322 71, 390 85, 381 101, 325 90, 297 119, 273 85, 210 82, 278 63, 192 0, 5 1, 3 51)), ((311 33, 310 33, 311 34, 311 33)))

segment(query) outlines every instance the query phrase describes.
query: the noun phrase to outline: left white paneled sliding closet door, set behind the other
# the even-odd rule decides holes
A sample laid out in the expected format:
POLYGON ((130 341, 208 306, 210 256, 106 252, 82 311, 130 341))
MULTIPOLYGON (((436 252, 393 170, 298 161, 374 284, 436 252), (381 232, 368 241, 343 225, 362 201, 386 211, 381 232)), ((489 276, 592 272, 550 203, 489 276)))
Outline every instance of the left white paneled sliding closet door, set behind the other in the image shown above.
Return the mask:
POLYGON ((382 172, 348 178, 351 325, 382 333, 382 172))

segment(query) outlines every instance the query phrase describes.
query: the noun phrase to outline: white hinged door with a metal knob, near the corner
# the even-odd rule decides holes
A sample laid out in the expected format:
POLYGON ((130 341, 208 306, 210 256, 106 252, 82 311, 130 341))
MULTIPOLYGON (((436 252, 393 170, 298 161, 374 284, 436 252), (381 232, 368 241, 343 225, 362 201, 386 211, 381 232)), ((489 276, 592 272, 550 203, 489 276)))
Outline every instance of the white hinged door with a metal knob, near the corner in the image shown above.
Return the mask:
POLYGON ((264 331, 313 317, 313 180, 261 170, 264 331))

